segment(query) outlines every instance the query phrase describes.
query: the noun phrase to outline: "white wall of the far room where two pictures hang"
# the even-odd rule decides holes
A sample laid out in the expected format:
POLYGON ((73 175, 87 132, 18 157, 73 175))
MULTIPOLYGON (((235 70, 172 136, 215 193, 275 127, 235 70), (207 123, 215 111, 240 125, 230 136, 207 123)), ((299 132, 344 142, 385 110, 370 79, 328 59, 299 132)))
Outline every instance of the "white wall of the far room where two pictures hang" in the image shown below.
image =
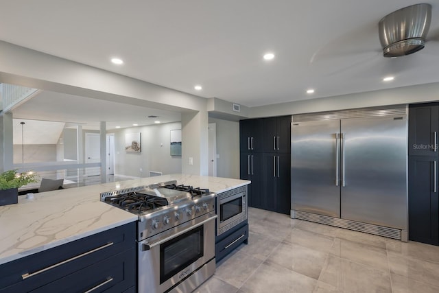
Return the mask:
POLYGON ((150 171, 163 174, 182 172, 181 156, 171 156, 171 130, 181 123, 126 128, 115 133, 115 175, 147 177, 150 171), (125 151, 125 134, 141 132, 141 152, 125 151), (142 172, 140 171, 142 169, 142 172))

